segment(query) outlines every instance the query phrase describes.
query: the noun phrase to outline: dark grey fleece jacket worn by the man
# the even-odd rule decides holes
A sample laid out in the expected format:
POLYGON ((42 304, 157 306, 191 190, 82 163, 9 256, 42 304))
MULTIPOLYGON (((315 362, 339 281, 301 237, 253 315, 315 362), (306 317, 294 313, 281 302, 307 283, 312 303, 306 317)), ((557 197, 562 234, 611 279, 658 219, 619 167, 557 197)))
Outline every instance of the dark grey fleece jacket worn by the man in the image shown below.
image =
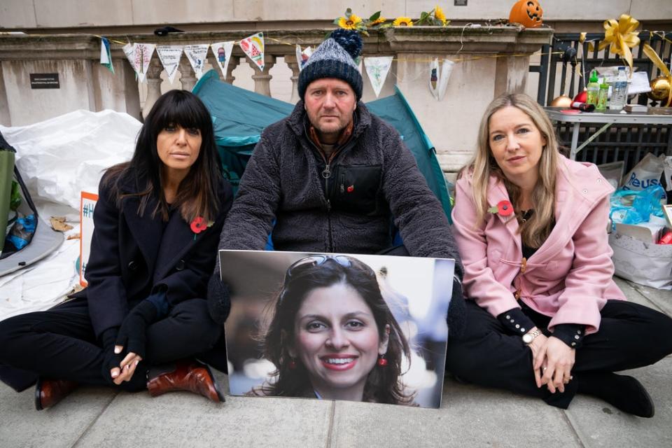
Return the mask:
MULTIPOLYGON (((454 258, 461 279, 447 218, 398 132, 362 102, 354 123, 328 170, 307 137, 302 101, 269 125, 241 178, 219 248, 262 250, 272 232, 279 251, 378 253, 392 244, 393 218, 410 255, 454 258)), ((216 276, 218 269, 219 260, 216 276)))

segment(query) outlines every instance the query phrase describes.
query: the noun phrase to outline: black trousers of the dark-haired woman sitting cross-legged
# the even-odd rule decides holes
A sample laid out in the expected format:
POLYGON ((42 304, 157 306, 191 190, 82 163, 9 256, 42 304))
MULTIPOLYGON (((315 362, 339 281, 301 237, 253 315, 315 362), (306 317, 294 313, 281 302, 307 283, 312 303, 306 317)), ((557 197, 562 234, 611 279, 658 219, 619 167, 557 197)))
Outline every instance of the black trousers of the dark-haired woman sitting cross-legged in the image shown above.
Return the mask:
MULTIPOLYGON (((146 356, 131 381, 120 387, 129 391, 146 388, 149 367, 209 351, 221 333, 205 300, 177 304, 166 318, 148 327, 146 356)), ((103 361, 85 299, 0 322, 0 380, 16 391, 31 386, 38 377, 110 385, 103 361)))

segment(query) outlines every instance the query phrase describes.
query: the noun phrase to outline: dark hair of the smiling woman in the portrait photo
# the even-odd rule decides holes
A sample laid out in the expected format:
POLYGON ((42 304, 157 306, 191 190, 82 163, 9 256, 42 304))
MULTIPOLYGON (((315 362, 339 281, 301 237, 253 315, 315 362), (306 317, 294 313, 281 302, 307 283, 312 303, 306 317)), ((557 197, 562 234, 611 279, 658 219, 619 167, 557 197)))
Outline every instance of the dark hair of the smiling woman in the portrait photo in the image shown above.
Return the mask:
MULTIPOLYGON (((342 255, 340 255, 342 256, 342 255)), ((390 326, 389 342, 385 358, 387 365, 375 365, 368 374, 363 401, 392 405, 414 405, 415 393, 406 393, 399 377, 403 356, 411 359, 409 344, 399 324, 392 315, 383 296, 373 269, 356 258, 347 257, 350 267, 329 259, 321 265, 306 267, 286 280, 276 300, 269 328, 262 336, 264 356, 276 366, 271 373, 274 380, 252 389, 248 395, 301 397, 310 384, 308 372, 302 363, 290 368, 288 341, 294 339, 294 321, 304 298, 315 288, 324 288, 337 283, 352 286, 370 307, 377 325, 379 337, 385 336, 385 326, 390 326)))

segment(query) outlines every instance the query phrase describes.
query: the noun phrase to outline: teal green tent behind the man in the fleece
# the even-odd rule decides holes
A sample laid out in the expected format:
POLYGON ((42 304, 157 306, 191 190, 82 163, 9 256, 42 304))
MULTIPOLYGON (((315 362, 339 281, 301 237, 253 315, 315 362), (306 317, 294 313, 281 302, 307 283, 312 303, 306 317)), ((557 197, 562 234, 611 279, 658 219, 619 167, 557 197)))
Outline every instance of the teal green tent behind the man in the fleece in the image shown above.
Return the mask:
MULTIPOLYGON (((294 105, 223 83, 214 70, 204 74, 193 92, 212 115, 225 171, 233 185, 237 186, 262 130, 288 116, 294 105)), ((391 97, 377 99, 366 106, 401 134, 450 221, 448 189, 434 146, 401 92, 395 87, 395 94, 391 97)))

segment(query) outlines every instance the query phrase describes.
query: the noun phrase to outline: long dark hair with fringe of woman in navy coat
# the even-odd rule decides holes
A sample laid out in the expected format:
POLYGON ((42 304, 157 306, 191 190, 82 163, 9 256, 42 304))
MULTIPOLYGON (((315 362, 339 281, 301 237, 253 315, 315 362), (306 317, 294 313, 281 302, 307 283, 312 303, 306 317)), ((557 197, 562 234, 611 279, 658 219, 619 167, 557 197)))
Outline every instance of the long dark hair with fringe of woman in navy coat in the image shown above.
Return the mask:
POLYGON ((160 214, 163 221, 168 221, 169 206, 163 193, 163 163, 156 147, 158 134, 168 126, 200 130, 202 138, 198 158, 180 183, 172 207, 178 208, 188 223, 197 216, 202 216, 206 222, 214 221, 219 208, 217 196, 218 179, 222 177, 221 160, 210 113, 195 94, 186 90, 170 90, 161 95, 139 132, 132 159, 107 169, 103 184, 111 188, 111 197, 117 207, 121 207, 127 197, 139 197, 140 216, 144 215, 150 198, 155 197, 157 204, 151 211, 152 217, 160 214), (141 179, 146 179, 143 185, 141 179), (123 191, 123 183, 129 180, 136 183, 137 193, 123 191))

